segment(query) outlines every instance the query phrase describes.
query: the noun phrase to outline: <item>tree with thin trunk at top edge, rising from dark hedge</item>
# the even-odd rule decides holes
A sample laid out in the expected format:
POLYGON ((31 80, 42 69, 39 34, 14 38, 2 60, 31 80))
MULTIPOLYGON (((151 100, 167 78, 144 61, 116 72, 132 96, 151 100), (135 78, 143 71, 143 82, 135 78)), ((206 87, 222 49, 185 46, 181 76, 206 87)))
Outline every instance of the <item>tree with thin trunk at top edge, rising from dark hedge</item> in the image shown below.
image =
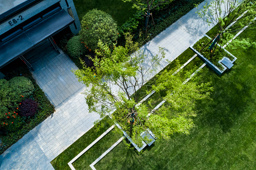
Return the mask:
POLYGON ((145 10, 145 16, 146 16, 146 22, 145 22, 145 36, 147 34, 147 26, 148 26, 148 20, 149 17, 152 18, 153 21, 153 16, 150 13, 153 9, 155 8, 159 8, 162 5, 166 5, 174 0, 122 0, 123 2, 132 2, 134 8, 136 9, 141 9, 141 10, 145 10))

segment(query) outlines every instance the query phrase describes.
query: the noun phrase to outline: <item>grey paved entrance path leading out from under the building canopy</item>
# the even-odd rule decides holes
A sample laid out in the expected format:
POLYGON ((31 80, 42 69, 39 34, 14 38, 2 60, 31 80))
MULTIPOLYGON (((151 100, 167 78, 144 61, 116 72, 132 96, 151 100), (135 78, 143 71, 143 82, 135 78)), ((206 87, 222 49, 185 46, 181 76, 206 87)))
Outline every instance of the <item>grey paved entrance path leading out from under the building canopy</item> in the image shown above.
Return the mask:
POLYGON ((35 71, 32 71, 37 84, 43 89, 51 103, 58 108, 74 93, 84 87, 77 81, 71 68, 77 69, 73 62, 62 51, 58 53, 47 40, 36 51, 25 56, 35 71), (34 56, 34 54, 36 56, 34 56))

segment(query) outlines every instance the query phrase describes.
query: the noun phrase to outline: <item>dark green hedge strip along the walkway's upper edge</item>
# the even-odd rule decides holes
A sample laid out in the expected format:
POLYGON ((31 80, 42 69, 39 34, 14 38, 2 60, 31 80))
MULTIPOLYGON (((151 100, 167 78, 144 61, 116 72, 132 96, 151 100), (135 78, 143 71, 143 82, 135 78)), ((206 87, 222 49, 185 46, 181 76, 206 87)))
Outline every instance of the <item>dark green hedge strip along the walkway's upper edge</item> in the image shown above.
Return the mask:
MULTIPOLYGON (((126 21, 126 23, 119 27, 119 32, 127 33, 127 31, 131 31, 131 33, 134 34, 135 42, 138 42, 139 44, 145 44, 147 41, 151 40, 167 27, 179 20, 182 16, 190 12, 193 8, 195 8, 195 4, 202 2, 203 0, 176 0, 169 5, 166 5, 166 7, 164 7, 162 10, 158 8, 152 10, 155 26, 153 26, 152 21, 149 20, 147 31, 148 35, 145 39, 141 39, 139 36, 140 30, 144 30, 145 22, 145 18, 143 17, 145 11, 142 10, 139 10, 133 18, 130 18, 128 21, 126 21), (124 30, 122 31, 122 29, 124 30)), ((124 34, 122 34, 118 40, 118 45, 124 44, 125 38, 124 34)))

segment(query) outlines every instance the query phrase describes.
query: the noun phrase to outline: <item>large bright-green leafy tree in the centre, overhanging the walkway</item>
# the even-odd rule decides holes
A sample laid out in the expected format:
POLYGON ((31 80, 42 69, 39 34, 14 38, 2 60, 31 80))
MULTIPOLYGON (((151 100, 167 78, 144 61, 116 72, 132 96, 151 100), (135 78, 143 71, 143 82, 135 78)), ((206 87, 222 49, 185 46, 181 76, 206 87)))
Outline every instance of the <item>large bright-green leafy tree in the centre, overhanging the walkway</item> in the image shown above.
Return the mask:
MULTIPOLYGON (((97 50, 92 59, 95 68, 84 66, 73 71, 87 87, 83 93, 90 112, 99 113, 102 118, 111 113, 110 121, 119 123, 139 146, 140 134, 147 128, 160 138, 168 138, 175 132, 190 132, 194 127, 192 117, 198 113, 194 110, 196 101, 209 98, 212 90, 209 82, 203 83, 199 76, 194 76, 183 83, 183 71, 175 74, 178 68, 161 71, 151 78, 165 53, 160 48, 159 54, 149 59, 130 35, 126 36, 125 47, 119 46, 113 52, 102 43, 99 47, 102 50, 97 50), (139 105, 153 90, 153 100, 139 105), (151 112, 150 106, 162 100, 166 100, 164 105, 151 112)), ((186 77, 190 74, 185 74, 186 77)))

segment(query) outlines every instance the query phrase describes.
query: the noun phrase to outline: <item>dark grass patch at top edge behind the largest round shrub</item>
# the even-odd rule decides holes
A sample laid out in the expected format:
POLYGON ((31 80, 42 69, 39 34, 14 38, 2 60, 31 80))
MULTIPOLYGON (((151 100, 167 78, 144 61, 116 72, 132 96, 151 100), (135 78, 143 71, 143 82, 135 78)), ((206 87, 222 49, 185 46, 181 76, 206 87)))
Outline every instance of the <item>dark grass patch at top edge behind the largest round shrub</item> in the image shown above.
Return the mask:
POLYGON ((74 0, 73 2, 80 21, 90 10, 98 9, 110 14, 117 21, 117 26, 121 26, 136 12, 132 8, 132 3, 124 3, 121 0, 74 0))

